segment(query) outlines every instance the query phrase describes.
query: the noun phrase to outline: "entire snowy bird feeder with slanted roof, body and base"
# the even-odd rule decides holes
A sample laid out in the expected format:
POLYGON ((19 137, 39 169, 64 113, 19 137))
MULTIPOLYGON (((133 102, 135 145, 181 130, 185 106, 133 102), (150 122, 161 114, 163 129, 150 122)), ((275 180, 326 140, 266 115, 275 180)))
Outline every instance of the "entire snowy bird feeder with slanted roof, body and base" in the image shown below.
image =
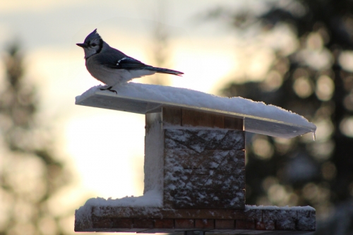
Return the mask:
POLYGON ((145 188, 137 201, 91 198, 75 231, 302 234, 312 207, 245 203, 245 132, 280 138, 315 133, 303 117, 262 102, 127 83, 117 94, 91 88, 76 104, 145 115, 145 188), (150 195, 153 195, 152 197, 150 195), (155 200, 155 201, 153 201, 155 200))

